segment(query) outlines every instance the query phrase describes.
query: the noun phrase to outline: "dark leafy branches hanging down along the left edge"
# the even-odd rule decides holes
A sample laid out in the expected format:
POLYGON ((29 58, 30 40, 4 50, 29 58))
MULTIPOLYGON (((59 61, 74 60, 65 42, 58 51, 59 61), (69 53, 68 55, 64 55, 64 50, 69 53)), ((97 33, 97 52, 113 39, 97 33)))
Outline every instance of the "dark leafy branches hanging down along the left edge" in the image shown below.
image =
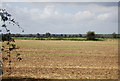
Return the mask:
MULTIPOLYGON (((11 62, 12 62, 11 61, 11 51, 18 49, 18 47, 16 46, 14 39, 11 37, 10 30, 7 27, 7 22, 9 22, 9 24, 12 24, 12 25, 17 25, 19 28, 21 28, 21 27, 18 24, 18 22, 16 22, 11 17, 11 14, 9 14, 5 9, 0 9, 0 17, 1 17, 1 23, 3 23, 1 27, 5 28, 6 32, 7 32, 6 34, 2 34, 3 43, 2 43, 1 51, 2 51, 2 54, 5 54, 5 55, 2 55, 2 59, 3 59, 3 62, 6 60, 8 61, 9 66, 8 66, 7 72, 8 72, 8 75, 10 75, 11 74, 11 62), (4 41, 6 41, 6 42, 4 42, 4 41)), ((22 32, 24 32, 24 30, 22 30, 22 32)), ((20 54, 17 53, 17 59, 20 58, 19 55, 20 54)), ((3 63, 2 63, 2 65, 3 65, 3 63)))

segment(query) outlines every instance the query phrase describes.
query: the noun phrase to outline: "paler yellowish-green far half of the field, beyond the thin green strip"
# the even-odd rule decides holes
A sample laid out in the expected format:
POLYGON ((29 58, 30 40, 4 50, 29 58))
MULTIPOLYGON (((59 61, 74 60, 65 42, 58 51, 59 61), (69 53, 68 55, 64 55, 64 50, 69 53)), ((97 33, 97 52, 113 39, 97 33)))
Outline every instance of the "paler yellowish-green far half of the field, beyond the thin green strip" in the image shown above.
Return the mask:
POLYGON ((16 43, 25 55, 118 55, 117 41, 17 40, 16 43))

